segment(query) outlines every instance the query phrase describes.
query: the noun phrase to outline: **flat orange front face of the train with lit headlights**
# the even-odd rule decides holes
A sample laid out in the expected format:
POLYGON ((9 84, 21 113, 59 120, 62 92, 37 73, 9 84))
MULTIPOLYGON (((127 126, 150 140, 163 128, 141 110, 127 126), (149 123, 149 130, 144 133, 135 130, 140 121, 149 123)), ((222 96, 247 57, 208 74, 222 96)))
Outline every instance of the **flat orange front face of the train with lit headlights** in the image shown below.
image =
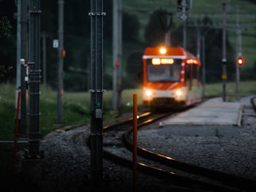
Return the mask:
POLYGON ((181 47, 147 47, 143 55, 143 105, 176 108, 186 104, 186 53, 181 47))

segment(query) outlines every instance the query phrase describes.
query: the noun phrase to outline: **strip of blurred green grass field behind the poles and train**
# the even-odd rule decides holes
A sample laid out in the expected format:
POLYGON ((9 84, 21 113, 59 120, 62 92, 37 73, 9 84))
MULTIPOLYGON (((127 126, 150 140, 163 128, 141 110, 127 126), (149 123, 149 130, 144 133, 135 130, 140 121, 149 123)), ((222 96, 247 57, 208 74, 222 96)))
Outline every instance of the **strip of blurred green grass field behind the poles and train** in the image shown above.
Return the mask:
MULTIPOLYGON (((15 85, 0 85, 0 140, 12 140, 15 128, 15 85)), ((236 83, 227 82, 227 93, 235 93, 236 83)), ((130 89, 122 92, 122 112, 132 111, 132 95, 138 93, 138 108, 142 108, 141 89, 130 89)), ((241 82, 240 93, 256 93, 256 81, 241 82)), ((206 85, 206 96, 222 96, 222 83, 206 85)), ((118 118, 118 112, 112 111, 112 92, 107 91, 104 96, 104 122, 113 118, 118 118)), ((52 89, 41 89, 40 95, 40 118, 39 127, 41 137, 50 131, 64 126, 90 123, 90 94, 64 93, 63 99, 63 119, 64 123, 55 124, 56 120, 56 91, 52 89)))

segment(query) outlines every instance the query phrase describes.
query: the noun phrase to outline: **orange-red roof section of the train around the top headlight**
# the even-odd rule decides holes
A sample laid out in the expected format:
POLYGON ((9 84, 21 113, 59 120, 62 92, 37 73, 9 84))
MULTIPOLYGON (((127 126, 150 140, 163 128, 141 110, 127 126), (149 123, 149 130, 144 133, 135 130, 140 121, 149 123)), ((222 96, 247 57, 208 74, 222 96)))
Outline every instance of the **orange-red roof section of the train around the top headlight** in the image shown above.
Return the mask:
POLYGON ((185 51, 182 47, 164 47, 166 53, 160 53, 160 49, 163 47, 147 47, 143 58, 155 58, 161 56, 161 58, 195 58, 192 53, 185 51))

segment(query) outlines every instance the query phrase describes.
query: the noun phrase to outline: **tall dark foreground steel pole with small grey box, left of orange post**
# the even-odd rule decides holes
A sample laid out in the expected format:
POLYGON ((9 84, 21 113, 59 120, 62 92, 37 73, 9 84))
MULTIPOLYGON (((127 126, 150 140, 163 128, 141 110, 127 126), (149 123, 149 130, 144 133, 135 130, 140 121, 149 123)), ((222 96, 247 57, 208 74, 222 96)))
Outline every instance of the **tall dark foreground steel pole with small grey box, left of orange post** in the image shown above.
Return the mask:
MULTIPOLYGON (((91 0, 91 185, 102 187, 103 115, 103 0, 91 0)), ((99 190, 100 191, 100 190, 99 190)))

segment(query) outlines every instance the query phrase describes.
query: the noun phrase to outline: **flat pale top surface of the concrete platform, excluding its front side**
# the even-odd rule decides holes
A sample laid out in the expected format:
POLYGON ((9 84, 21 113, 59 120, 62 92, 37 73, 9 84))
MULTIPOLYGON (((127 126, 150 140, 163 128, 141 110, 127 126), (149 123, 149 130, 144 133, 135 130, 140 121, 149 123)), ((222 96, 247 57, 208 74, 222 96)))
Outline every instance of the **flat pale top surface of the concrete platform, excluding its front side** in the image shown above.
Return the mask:
POLYGON ((159 126, 240 126, 243 104, 210 99, 198 107, 181 112, 159 123, 159 126))

